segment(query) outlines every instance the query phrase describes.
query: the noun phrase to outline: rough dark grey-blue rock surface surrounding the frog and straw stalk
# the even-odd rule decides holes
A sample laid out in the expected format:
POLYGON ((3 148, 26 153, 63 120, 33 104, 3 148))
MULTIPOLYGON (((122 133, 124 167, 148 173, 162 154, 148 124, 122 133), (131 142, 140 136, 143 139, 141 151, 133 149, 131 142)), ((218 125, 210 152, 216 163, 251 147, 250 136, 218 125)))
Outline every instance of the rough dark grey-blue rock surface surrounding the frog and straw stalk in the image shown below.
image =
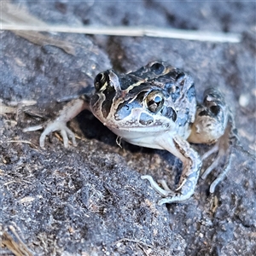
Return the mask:
MULTIPOLYGON (((38 102, 26 108, 18 105, 17 113, 0 116, 3 241, 18 242, 16 230, 34 255, 255 254, 255 161, 241 150, 235 150, 231 171, 215 194, 209 194, 209 184, 221 166, 206 180, 199 180, 189 201, 159 207, 160 196, 140 176, 165 178, 175 186, 182 165, 168 152, 127 143, 119 148, 113 133, 88 112, 70 122, 81 138, 76 148, 63 148, 55 136, 47 138, 45 149, 39 148, 40 132, 22 129, 53 118, 63 106, 56 99, 79 94, 96 73, 109 67, 128 72, 157 59, 191 73, 199 98, 208 86, 218 86, 235 113, 241 144, 253 151, 256 4, 14 3, 22 3, 32 15, 52 24, 238 32, 242 40, 220 44, 50 34, 73 46, 75 54, 69 55, 3 31, 0 98, 5 103, 38 102)), ((3 255, 12 255, 7 247, 1 250, 3 255)))

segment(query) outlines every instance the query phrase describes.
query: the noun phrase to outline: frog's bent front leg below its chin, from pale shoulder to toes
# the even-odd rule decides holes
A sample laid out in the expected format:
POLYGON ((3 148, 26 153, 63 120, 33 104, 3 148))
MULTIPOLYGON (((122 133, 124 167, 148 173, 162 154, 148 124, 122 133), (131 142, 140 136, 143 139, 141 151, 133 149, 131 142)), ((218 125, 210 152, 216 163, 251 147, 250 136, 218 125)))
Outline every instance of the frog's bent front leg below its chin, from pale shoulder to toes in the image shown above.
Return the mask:
POLYGON ((189 143, 181 137, 160 137, 158 138, 158 144, 161 148, 168 150, 183 162, 183 172, 179 179, 179 183, 177 184, 177 189, 175 191, 170 191, 167 188, 161 189, 149 175, 145 175, 142 178, 148 179, 151 186, 160 193, 160 195, 165 197, 158 202, 159 205, 189 199, 189 197, 194 194, 201 170, 201 159, 199 154, 197 154, 195 150, 190 147, 189 143))

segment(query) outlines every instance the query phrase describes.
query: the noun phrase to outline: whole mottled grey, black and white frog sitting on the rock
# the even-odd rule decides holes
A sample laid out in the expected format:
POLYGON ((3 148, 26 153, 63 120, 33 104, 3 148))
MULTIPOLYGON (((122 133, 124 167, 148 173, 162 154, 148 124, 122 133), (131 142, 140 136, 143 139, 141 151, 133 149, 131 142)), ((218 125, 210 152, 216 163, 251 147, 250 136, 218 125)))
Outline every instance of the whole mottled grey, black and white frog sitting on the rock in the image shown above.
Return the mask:
MULTIPOLYGON (((164 149, 182 161, 183 171, 176 189, 169 189, 165 180, 157 183, 150 175, 142 176, 161 196, 159 205, 187 201, 195 193, 202 161, 218 152, 217 160, 202 175, 206 178, 227 154, 232 138, 237 138, 233 115, 220 90, 216 86, 208 88, 203 101, 198 102, 192 76, 166 61, 150 61, 125 74, 113 69, 98 73, 90 94, 68 102, 55 120, 25 131, 43 128, 39 139, 42 148, 53 131, 60 131, 65 148, 69 138, 76 146, 67 122, 84 109, 127 143, 164 149), (196 143, 214 146, 201 156, 193 148, 196 143)), ((212 182, 211 193, 230 170, 229 160, 228 157, 221 174, 212 182)))

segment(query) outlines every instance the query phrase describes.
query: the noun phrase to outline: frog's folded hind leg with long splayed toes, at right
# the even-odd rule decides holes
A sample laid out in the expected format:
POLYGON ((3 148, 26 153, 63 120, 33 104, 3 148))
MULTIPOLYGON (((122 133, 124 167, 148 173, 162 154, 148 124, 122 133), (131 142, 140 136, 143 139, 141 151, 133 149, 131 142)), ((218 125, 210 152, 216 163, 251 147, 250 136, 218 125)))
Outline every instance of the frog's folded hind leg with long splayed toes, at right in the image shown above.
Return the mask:
POLYGON ((210 155, 218 152, 216 159, 211 166, 202 174, 205 179, 212 170, 225 160, 224 169, 213 181, 210 192, 213 193, 216 186, 230 171, 230 159, 233 150, 233 144, 238 141, 235 129, 235 123, 227 107, 224 96, 215 88, 205 91, 204 101, 199 104, 196 111, 195 123, 192 126, 192 132, 189 137, 191 143, 206 143, 215 145, 201 157, 206 160, 210 155))

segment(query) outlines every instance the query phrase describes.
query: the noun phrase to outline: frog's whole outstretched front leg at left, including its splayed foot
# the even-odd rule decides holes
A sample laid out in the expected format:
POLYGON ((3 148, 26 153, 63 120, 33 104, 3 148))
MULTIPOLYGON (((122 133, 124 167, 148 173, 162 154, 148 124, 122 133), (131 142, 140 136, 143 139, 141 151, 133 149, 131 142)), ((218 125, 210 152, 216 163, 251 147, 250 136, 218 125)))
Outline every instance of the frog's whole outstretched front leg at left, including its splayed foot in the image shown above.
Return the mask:
POLYGON ((85 99, 85 97, 81 97, 79 99, 73 100, 72 102, 68 102, 67 106, 61 110, 58 117, 50 121, 49 123, 45 123, 43 125, 32 126, 24 129, 23 131, 37 131, 40 129, 44 129, 43 133, 40 136, 39 143, 40 147, 44 148, 44 140, 49 133, 53 131, 60 131, 61 137, 63 138, 64 147, 68 146, 68 137, 71 138, 73 145, 76 145, 75 136, 73 131, 71 131, 67 127, 67 122, 73 119, 76 115, 78 115, 84 109, 90 110, 89 102, 85 99))

